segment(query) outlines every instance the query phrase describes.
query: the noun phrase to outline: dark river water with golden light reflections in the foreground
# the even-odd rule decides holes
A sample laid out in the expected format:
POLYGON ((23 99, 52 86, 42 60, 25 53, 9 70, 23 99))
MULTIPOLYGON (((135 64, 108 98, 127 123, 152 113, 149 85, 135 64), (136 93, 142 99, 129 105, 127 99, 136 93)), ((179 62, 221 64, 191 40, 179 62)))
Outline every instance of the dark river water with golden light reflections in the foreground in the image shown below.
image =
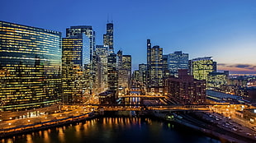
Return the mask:
POLYGON ((150 118, 96 118, 2 139, 17 143, 207 143, 220 142, 171 122, 150 118))

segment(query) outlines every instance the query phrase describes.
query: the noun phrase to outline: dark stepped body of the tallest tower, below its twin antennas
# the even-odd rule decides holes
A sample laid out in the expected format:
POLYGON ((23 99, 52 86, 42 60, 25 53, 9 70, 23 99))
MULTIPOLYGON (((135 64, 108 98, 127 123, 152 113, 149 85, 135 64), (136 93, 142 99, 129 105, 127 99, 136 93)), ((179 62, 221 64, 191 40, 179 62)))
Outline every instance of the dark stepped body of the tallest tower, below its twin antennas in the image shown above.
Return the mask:
POLYGON ((103 35, 103 44, 108 46, 109 53, 114 53, 114 25, 107 23, 107 33, 103 35))

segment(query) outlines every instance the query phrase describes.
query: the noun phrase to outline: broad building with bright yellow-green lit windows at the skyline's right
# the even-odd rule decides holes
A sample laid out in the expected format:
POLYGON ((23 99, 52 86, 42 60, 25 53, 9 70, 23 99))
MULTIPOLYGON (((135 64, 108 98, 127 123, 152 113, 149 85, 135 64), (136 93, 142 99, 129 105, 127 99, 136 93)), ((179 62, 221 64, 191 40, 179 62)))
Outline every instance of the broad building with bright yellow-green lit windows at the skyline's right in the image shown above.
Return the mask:
POLYGON ((197 80, 207 80, 210 72, 216 72, 216 62, 211 57, 194 58, 189 61, 190 74, 197 80))

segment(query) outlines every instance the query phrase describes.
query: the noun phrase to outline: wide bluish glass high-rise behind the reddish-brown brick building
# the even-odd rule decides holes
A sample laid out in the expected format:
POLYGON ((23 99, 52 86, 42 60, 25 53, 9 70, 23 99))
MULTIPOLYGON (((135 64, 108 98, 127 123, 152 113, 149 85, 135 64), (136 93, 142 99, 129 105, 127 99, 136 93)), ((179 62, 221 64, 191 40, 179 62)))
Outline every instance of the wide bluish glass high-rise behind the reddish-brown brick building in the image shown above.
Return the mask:
POLYGON ((176 51, 168 54, 168 71, 173 76, 178 76, 178 69, 188 69, 188 53, 176 51))

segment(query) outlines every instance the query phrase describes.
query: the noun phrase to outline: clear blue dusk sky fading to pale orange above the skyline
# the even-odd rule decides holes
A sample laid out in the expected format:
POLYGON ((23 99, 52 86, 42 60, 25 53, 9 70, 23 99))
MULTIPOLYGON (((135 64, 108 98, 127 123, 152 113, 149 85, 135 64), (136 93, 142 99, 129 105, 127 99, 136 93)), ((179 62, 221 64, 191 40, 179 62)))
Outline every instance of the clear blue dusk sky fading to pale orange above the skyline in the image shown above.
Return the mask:
POLYGON ((146 39, 164 54, 212 56, 219 70, 256 73, 256 0, 2 0, 0 20, 57 30, 92 25, 102 44, 107 17, 114 48, 146 63, 146 39))

